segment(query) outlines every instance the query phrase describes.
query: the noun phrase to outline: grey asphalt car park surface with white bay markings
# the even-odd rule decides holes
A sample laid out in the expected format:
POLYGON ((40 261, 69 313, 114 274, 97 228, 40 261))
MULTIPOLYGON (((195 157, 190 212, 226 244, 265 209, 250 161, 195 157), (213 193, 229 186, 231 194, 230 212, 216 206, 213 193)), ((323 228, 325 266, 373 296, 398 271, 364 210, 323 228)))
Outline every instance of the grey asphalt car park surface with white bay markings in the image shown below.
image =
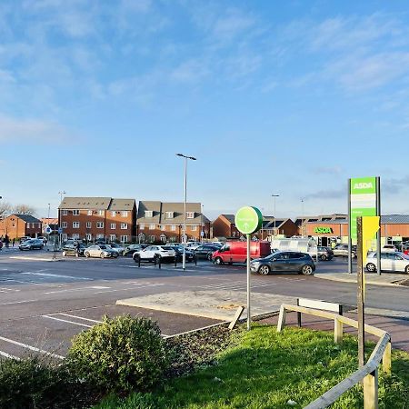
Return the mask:
MULTIPOLYGON (((0 354, 22 356, 39 349, 58 359, 65 355, 72 336, 99 322, 104 314, 150 316, 164 335, 215 324, 217 321, 208 318, 136 309, 115 302, 141 294, 201 289, 245 291, 246 287, 243 265, 216 266, 203 261, 197 266, 187 264, 184 272, 180 265, 175 268, 172 264, 163 264, 160 270, 153 264, 138 268, 125 257, 67 257, 56 262, 47 261, 49 258, 46 252, 0 254, 0 354)), ((323 262, 317 269, 341 272, 345 271, 346 262, 323 262)), ((351 305, 356 300, 355 284, 298 274, 254 276, 252 291, 351 305)), ((368 285, 366 305, 409 312, 408 291, 368 285)), ((404 328, 409 339, 409 328, 404 328)))

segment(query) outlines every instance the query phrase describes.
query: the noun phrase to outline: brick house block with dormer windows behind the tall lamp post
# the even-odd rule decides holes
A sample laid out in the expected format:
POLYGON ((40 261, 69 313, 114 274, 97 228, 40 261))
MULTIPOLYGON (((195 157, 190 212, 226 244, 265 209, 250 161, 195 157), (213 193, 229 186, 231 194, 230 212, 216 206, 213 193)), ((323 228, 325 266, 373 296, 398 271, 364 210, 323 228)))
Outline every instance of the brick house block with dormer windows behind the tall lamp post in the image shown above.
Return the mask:
MULTIPOLYGON (((136 218, 136 234, 140 243, 181 242, 184 234, 184 203, 141 201, 136 218)), ((202 214, 200 203, 186 204, 186 235, 200 240, 210 235, 210 221, 202 214)))

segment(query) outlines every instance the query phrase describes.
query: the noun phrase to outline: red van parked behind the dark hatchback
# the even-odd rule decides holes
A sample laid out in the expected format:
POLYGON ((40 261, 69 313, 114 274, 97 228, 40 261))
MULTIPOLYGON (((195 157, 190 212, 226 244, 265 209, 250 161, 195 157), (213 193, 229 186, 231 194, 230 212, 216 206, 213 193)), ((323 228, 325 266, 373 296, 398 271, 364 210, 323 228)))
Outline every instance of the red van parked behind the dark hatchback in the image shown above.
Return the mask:
MULTIPOLYGON (((271 254, 269 242, 251 242, 250 258, 263 258, 271 254)), ((247 259, 247 242, 226 242, 222 248, 212 254, 214 264, 245 263, 247 259)))

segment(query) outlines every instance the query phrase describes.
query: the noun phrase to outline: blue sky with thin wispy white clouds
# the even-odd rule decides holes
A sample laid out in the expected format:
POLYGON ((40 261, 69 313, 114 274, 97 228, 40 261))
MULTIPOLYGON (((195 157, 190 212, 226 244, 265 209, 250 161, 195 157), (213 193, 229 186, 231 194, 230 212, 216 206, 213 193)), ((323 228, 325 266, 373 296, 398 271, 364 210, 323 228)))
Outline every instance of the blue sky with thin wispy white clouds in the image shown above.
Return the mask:
POLYGON ((406 1, 2 0, 0 195, 409 214, 406 1), (303 199, 303 201, 302 201, 303 199))

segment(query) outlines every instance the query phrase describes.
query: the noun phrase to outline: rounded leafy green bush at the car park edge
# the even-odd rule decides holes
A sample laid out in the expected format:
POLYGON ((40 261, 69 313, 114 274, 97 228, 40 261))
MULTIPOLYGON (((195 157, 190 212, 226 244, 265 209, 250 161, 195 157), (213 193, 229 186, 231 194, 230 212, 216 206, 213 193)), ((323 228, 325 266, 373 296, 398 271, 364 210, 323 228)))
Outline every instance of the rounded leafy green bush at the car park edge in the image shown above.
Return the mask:
POLYGON ((145 317, 103 318, 78 334, 68 353, 71 371, 103 392, 146 391, 168 366, 159 327, 145 317))

